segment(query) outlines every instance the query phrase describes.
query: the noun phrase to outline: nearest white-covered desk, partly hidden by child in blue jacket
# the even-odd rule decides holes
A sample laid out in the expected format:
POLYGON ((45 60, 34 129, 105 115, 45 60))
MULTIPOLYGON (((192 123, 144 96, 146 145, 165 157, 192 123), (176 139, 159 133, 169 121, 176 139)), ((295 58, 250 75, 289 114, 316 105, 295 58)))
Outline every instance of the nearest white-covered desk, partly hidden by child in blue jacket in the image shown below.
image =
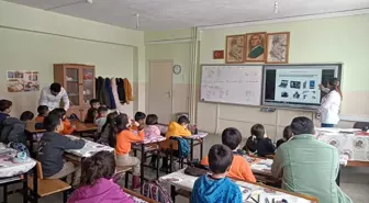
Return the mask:
MULTIPOLYGON (((192 177, 185 174, 185 169, 177 172, 164 176, 160 178, 163 183, 170 187, 170 195, 175 200, 176 195, 180 190, 192 192, 194 181, 198 177, 192 177), (176 190, 176 189, 179 189, 176 190)), ((239 187, 243 194, 243 202, 246 200, 251 201, 251 198, 265 200, 268 199, 269 202, 275 202, 276 200, 286 199, 288 202, 294 203, 317 203, 317 199, 304 194, 298 194, 293 192, 288 192, 284 190, 267 187, 259 183, 250 183, 245 181, 234 180, 234 182, 239 187)), ((251 201, 253 202, 253 201, 251 201)), ((264 201, 260 201, 264 203, 264 201)))

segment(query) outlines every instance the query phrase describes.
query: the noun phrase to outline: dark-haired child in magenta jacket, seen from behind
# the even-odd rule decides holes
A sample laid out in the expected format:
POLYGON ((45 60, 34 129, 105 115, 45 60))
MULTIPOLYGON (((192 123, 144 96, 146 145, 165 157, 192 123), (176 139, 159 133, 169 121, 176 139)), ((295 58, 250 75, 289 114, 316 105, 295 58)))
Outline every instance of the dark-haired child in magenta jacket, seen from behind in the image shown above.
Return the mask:
POLYGON ((80 188, 68 203, 134 203, 112 179, 115 173, 114 154, 99 151, 82 162, 80 188))

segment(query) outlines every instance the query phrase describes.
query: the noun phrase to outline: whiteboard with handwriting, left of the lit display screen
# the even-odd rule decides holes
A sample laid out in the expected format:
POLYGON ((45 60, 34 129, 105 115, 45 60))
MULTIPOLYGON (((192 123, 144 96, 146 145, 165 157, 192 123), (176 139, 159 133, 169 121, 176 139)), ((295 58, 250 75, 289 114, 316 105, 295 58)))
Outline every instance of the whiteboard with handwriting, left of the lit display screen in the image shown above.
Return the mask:
POLYGON ((262 65, 202 65, 200 101, 260 105, 262 65))

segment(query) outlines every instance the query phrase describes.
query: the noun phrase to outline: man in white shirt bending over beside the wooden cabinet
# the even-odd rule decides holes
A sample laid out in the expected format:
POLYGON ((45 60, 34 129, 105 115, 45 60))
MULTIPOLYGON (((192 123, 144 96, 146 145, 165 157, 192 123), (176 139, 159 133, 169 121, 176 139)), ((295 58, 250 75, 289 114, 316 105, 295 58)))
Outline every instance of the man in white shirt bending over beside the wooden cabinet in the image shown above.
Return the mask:
POLYGON ((67 91, 59 83, 52 83, 46 86, 41 90, 41 95, 38 100, 40 105, 47 105, 49 111, 56 108, 60 108, 60 101, 63 100, 64 109, 67 111, 69 109, 69 98, 67 91))

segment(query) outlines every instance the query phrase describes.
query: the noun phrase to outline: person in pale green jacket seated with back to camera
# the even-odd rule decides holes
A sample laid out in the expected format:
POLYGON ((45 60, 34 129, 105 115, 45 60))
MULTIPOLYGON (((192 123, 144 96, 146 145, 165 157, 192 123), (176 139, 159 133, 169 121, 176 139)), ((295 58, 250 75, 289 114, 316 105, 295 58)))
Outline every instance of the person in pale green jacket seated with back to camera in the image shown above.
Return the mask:
POLYGON ((292 120, 293 138, 277 149, 271 173, 282 179, 282 189, 312 195, 322 203, 351 203, 336 184, 338 150, 317 140, 314 123, 308 117, 292 120))

